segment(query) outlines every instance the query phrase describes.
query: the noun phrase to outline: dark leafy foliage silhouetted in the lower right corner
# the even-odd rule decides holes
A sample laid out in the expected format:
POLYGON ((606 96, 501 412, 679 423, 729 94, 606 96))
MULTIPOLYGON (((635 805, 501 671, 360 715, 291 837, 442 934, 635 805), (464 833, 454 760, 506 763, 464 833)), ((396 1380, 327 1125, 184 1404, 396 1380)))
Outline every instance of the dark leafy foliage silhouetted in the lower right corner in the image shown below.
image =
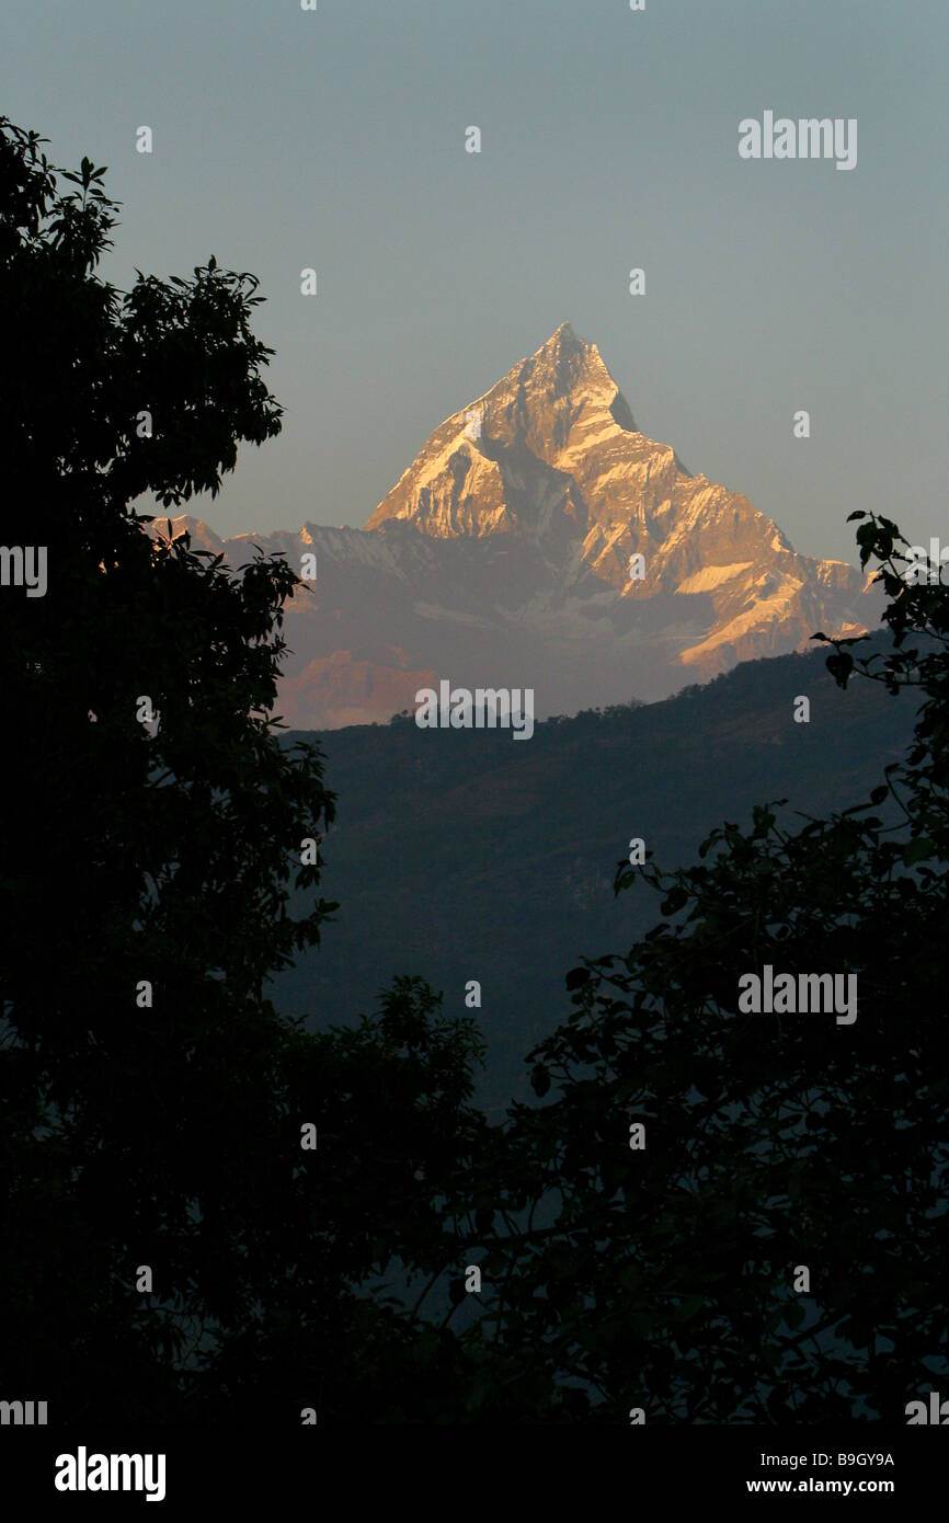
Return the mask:
POLYGON ((827 666, 919 690, 909 755, 830 819, 777 800, 693 867, 620 864, 664 918, 568 975, 551 1098, 497 1142, 480 1336, 593 1419, 903 1422, 949 1375, 949 589, 852 516, 893 644, 827 666), (855 973, 856 1020, 740 1013, 766 964, 855 973))

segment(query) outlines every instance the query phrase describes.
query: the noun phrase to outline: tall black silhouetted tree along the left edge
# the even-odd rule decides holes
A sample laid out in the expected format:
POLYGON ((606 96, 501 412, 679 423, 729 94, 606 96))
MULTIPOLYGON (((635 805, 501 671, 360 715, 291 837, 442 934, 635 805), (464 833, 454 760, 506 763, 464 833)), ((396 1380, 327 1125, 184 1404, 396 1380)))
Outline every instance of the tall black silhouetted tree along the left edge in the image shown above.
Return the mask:
POLYGON ((347 1033, 274 1010, 335 908, 320 754, 271 713, 297 577, 134 507, 279 433, 257 282, 114 289, 105 171, 62 193, 41 142, 0 119, 0 1384, 52 1422, 425 1410, 459 1346, 373 1290, 443 1249, 474 1023, 411 981, 347 1033))

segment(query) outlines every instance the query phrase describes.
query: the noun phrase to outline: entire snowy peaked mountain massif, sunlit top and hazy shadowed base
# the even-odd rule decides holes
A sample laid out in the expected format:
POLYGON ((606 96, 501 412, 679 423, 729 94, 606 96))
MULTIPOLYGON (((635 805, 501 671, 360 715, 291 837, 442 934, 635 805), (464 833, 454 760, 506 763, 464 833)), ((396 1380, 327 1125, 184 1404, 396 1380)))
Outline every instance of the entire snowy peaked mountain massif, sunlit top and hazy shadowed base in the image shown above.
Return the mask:
POLYGON ((532 687, 539 719, 658 699, 879 618, 853 567, 797 554, 745 496, 640 434, 568 323, 436 428, 364 530, 222 542, 171 522, 235 565, 253 545, 297 571, 315 554, 286 615, 280 710, 302 728, 385 720, 440 678, 532 687))

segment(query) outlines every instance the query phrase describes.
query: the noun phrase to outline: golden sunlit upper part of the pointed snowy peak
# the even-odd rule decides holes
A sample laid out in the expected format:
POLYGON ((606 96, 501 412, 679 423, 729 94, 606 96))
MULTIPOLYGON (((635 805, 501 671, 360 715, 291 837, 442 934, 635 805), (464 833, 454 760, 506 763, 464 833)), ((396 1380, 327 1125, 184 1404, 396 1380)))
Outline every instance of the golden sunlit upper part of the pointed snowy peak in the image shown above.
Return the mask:
MULTIPOLYGON (((815 617, 815 627, 861 623, 844 606, 862 600, 858 573, 797 556, 748 498, 693 477, 670 445, 641 434, 597 346, 570 323, 434 431, 366 527, 393 519, 440 539, 522 536, 553 559, 561 585, 594 577, 641 602, 705 594, 699 617, 713 617, 682 640, 678 661, 708 675, 792 649, 815 617), (631 582, 637 553, 646 576, 631 582)), ((682 634, 696 612, 676 609, 682 634)))

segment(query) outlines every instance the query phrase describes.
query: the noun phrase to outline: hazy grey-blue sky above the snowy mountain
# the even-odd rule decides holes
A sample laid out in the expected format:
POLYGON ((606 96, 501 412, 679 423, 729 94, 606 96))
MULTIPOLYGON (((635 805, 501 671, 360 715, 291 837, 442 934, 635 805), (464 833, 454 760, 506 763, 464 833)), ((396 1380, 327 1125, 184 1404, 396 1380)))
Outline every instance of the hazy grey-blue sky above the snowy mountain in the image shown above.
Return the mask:
POLYGON ((286 417, 193 504, 225 535, 364 524, 431 429, 568 318, 637 426, 795 548, 853 559, 855 507, 944 538, 947 65, 944 0, 0 15, 2 110, 55 163, 108 164, 125 203, 105 276, 213 253, 262 280, 286 417), (856 117, 856 168, 739 158, 739 120, 766 110, 856 117))

